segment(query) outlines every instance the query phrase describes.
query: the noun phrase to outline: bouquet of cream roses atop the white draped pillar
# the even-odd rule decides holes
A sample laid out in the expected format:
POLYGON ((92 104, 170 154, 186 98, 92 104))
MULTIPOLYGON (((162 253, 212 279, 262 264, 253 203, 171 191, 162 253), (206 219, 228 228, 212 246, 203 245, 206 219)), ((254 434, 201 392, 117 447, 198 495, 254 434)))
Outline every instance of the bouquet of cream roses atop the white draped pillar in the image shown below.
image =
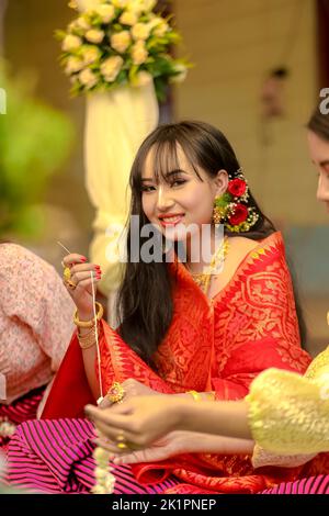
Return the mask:
MULTIPOLYGON (((169 18, 154 12, 156 0, 93 0, 68 25, 57 31, 60 63, 72 94, 109 91, 117 86, 143 86, 154 80, 159 100, 168 82, 182 81, 189 63, 174 59, 170 47, 180 41, 169 18)), ((78 10, 78 1, 71 0, 78 10)))

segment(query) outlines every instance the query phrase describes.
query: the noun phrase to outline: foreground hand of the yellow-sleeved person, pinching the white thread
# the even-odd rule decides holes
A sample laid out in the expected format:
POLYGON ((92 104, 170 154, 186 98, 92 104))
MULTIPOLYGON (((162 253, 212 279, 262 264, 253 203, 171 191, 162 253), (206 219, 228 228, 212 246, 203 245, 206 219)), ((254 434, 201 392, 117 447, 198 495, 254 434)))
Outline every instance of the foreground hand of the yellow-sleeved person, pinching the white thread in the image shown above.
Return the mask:
MULTIPOLYGON (((87 415, 93 419, 100 433, 114 442, 123 434, 125 440, 134 446, 150 445, 179 426, 182 405, 194 404, 193 400, 190 402, 173 395, 161 394, 157 399, 140 396, 141 384, 135 380, 134 383, 138 383, 138 386, 132 380, 126 382, 131 382, 134 395, 125 403, 116 403, 107 408, 86 406, 87 415)), ((143 388, 149 389, 145 385, 143 388)))

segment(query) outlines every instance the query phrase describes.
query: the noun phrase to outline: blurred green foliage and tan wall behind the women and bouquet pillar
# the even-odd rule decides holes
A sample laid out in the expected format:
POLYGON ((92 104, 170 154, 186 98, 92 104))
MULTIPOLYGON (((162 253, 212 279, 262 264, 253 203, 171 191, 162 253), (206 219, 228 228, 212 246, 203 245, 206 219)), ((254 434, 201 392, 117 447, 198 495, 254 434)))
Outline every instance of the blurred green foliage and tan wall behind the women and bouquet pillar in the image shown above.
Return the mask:
MULTIPOLYGON (((54 37, 73 16, 67 3, 0 0, 0 239, 56 268, 57 240, 88 254, 93 218, 84 99, 70 97, 54 37)), ((256 198, 284 232, 315 355, 328 344, 329 220, 316 201, 305 124, 329 87, 329 1, 161 3, 182 34, 179 53, 194 63, 168 91, 162 120, 209 122, 232 144, 256 198)))

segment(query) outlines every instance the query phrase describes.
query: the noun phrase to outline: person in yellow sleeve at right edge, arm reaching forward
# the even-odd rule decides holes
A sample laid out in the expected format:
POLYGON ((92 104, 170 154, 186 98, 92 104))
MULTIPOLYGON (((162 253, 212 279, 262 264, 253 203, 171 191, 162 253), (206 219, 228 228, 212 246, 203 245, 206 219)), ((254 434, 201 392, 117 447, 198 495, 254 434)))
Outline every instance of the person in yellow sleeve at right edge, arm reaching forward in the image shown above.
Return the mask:
MULTIPOLYGON (((329 114, 317 109, 307 136, 318 172, 317 198, 329 212, 329 114)), ((329 494, 329 346, 305 375, 273 368, 262 372, 243 401, 194 403, 163 396, 155 404, 152 397, 141 396, 110 411, 89 406, 87 413, 107 438, 100 444, 116 464, 159 461, 181 452, 223 452, 225 447, 229 451, 237 438, 254 439, 254 467, 304 464, 321 453, 305 467, 300 480, 266 493, 329 494), (140 449, 120 453, 118 429, 140 449), (320 474, 314 475, 316 471, 320 474)))

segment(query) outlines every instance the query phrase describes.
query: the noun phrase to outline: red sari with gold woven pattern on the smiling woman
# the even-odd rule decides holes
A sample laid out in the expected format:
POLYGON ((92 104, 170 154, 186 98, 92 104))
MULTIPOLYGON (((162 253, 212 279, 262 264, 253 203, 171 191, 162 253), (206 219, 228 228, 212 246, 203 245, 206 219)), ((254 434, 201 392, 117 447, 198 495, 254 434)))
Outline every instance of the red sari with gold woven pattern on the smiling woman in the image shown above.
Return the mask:
MULTIPOLYGON (((181 263, 171 263, 170 268, 177 279, 174 313, 155 357, 158 374, 103 322, 100 349, 104 392, 113 381, 134 378, 161 393, 215 391, 217 400, 238 400, 266 368, 300 373, 306 370, 310 358, 299 345, 292 281, 280 233, 249 253, 212 301, 181 263)), ((79 417, 90 402, 94 400, 73 336, 43 418, 79 417)), ((248 456, 208 453, 137 464, 133 470, 140 483, 159 482, 174 474, 182 484, 171 492, 184 493, 256 493, 280 481, 294 480, 299 471, 266 468, 259 473, 248 456)))

